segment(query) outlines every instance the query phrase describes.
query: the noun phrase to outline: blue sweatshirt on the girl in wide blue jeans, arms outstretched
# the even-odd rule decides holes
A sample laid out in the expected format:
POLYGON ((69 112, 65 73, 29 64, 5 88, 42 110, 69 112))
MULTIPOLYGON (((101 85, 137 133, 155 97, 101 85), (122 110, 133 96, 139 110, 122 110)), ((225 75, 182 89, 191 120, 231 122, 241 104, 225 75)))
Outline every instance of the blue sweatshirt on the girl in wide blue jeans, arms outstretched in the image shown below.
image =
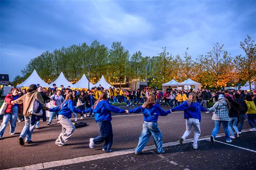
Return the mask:
POLYGON ((149 109, 142 108, 142 106, 128 110, 129 113, 143 113, 144 121, 146 122, 157 122, 158 116, 166 116, 171 113, 170 110, 163 110, 158 104, 152 105, 149 109))

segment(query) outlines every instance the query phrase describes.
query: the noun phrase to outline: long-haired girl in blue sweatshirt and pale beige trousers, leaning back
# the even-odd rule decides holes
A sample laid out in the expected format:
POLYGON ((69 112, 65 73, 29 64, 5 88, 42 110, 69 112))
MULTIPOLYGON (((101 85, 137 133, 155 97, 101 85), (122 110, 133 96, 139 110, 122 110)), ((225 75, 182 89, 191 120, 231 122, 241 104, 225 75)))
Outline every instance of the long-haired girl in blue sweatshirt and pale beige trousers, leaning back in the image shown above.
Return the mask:
POLYGON ((50 112, 59 111, 58 120, 59 120, 59 123, 62 125, 62 132, 60 133, 59 137, 55 141, 55 144, 58 146, 64 146, 65 143, 68 141, 68 138, 70 138, 73 135, 76 128, 71 122, 71 120, 69 120, 72 117, 72 113, 83 114, 86 112, 86 110, 85 111, 77 110, 74 107, 72 93, 68 93, 66 94, 66 99, 60 106, 55 107, 53 109, 49 109, 49 111, 50 112))

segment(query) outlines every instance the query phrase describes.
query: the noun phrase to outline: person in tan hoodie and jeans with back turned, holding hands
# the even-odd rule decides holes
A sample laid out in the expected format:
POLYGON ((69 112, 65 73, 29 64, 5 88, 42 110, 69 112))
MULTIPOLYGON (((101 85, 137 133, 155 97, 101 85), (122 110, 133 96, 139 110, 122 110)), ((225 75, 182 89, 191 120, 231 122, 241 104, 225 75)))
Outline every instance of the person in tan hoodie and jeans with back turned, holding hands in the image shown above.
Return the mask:
POLYGON ((23 115, 25 117, 25 125, 23 127, 22 132, 20 133, 20 136, 19 136, 19 144, 20 145, 24 145, 25 137, 26 137, 25 142, 27 142, 27 143, 32 142, 31 138, 32 138, 32 134, 33 134, 34 128, 36 126, 36 123, 34 122, 32 124, 32 122, 31 122, 32 114, 29 112, 29 109, 30 109, 31 105, 33 104, 34 99, 37 99, 38 102, 40 102, 40 104, 42 104, 42 109, 44 109, 44 110, 49 109, 44 105, 43 97, 37 91, 37 89, 38 89, 37 85, 34 85, 34 84, 29 85, 28 93, 21 96, 19 99, 11 101, 12 104, 22 104, 23 103, 23 115))

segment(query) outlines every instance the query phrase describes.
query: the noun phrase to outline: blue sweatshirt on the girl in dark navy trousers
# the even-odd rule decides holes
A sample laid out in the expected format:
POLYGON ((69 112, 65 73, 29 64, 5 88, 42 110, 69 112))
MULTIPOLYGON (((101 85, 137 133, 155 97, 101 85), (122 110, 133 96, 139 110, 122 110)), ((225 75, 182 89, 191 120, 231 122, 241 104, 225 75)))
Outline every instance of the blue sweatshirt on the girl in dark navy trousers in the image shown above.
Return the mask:
POLYGON ((111 112, 125 113, 125 110, 112 106, 106 100, 101 100, 99 101, 95 109, 92 110, 92 112, 94 112, 95 121, 96 123, 98 123, 101 121, 111 121, 111 112))

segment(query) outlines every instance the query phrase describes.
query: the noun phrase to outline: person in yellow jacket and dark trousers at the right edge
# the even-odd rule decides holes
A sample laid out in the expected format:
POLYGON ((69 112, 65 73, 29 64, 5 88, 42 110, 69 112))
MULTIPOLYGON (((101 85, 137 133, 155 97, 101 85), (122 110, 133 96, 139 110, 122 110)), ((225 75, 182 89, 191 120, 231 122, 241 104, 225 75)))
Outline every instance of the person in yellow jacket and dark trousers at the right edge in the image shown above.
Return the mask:
POLYGON ((250 131, 256 132, 256 106, 254 101, 251 98, 250 94, 245 96, 245 103, 247 105, 247 120, 251 126, 250 131))

